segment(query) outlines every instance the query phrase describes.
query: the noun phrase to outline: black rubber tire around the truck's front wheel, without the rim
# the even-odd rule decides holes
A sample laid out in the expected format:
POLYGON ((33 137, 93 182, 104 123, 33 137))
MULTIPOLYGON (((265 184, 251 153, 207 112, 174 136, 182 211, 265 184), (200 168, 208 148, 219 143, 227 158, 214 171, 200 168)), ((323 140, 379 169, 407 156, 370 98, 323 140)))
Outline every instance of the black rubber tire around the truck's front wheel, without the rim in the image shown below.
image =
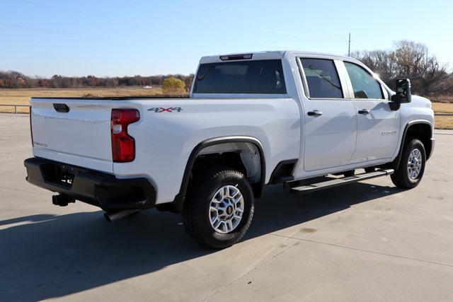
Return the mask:
POLYGON ((416 187, 423 178, 423 173, 425 172, 425 165, 426 165, 426 153, 425 153, 425 146, 419 139, 415 139, 413 137, 408 137, 403 146, 403 154, 401 156, 401 160, 398 166, 398 169, 395 170, 395 173, 390 175, 391 181, 394 182, 396 187, 400 187, 401 189, 412 189, 416 187), (408 161, 409 156, 413 150, 418 149, 420 151, 421 156, 421 168, 420 172, 416 176, 416 178, 409 177, 408 173, 408 161))

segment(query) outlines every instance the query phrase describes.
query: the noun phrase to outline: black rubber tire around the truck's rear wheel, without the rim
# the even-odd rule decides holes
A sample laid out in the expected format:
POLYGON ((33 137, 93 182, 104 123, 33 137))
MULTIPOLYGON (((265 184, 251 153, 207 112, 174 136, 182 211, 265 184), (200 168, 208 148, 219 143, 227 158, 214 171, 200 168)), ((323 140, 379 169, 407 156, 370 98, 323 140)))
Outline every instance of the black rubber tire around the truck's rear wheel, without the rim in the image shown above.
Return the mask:
POLYGON ((245 235, 253 217, 253 191, 248 179, 239 171, 214 168, 194 182, 192 193, 183 209, 183 223, 190 238, 206 248, 222 249, 239 242, 245 235), (210 203, 220 188, 231 185, 239 189, 243 197, 242 218, 229 233, 219 233, 210 223, 210 203))

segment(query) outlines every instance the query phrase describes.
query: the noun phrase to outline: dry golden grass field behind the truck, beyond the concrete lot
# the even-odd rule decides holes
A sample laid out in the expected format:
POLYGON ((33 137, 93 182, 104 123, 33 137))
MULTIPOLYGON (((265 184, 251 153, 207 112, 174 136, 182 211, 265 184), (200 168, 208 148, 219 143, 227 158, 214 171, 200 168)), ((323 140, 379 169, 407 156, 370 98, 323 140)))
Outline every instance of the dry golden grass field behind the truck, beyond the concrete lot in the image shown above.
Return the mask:
MULTIPOLYGON (((35 97, 153 97, 162 95, 159 88, 83 88, 83 89, 0 89, 0 105, 28 105, 30 98, 35 97)), ((440 102, 453 102, 453 98, 441 98, 440 102)), ((453 114, 453 103, 432 103, 436 113, 453 114)), ((18 112, 27 113, 27 107, 18 107, 18 112)), ((14 112, 14 108, 0 106, 0 112, 14 112)), ((453 129, 453 116, 436 115, 437 129, 453 129)))

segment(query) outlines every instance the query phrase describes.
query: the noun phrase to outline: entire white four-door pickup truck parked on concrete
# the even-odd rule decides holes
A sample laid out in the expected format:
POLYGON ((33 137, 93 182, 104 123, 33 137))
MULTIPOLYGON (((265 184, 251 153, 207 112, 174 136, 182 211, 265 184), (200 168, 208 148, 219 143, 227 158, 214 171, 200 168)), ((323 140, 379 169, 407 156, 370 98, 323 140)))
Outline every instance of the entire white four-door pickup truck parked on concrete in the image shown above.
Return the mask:
POLYGON ((412 188, 434 148, 430 100, 411 95, 407 79, 394 92, 361 62, 330 54, 202 57, 186 99, 30 103, 27 180, 59 193, 54 204, 78 199, 109 221, 182 212, 209 248, 244 236, 264 185, 309 192, 391 175, 412 188))

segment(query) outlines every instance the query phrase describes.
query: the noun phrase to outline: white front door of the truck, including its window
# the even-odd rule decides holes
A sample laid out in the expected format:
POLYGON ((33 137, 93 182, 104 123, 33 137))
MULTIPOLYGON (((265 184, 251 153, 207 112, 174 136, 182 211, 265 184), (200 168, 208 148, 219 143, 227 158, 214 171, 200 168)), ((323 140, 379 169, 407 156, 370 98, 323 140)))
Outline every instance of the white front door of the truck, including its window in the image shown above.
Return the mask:
POLYGON ((384 87, 359 64, 344 62, 357 112, 357 146, 351 163, 391 158, 398 146, 400 112, 391 110, 384 87))

